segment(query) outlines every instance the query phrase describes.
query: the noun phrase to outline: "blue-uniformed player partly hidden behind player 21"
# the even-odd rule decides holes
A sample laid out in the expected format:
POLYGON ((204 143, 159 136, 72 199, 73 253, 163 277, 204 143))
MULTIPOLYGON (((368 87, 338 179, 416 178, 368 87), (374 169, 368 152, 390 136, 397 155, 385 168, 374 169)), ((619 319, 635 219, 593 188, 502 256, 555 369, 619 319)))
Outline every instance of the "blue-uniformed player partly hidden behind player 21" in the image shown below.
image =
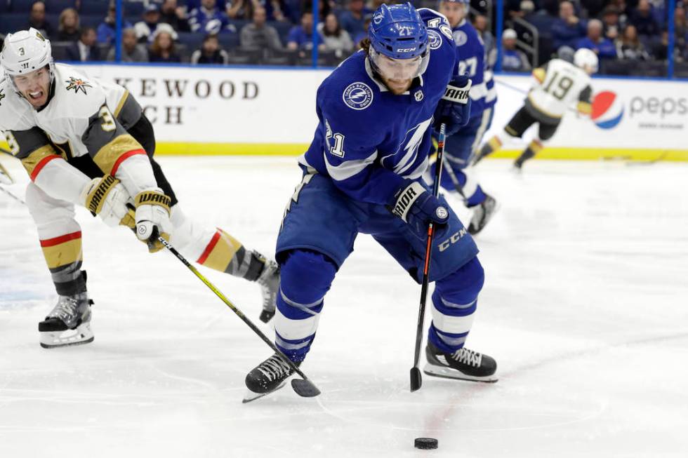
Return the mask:
MULTIPOLYGON (((466 19, 468 0, 443 0, 439 12, 446 16, 456 43, 455 75, 468 73, 470 86, 470 119, 468 124, 454 135, 448 135, 444 143, 444 168, 440 184, 444 189, 456 192, 465 206, 473 210, 468 232, 481 231, 496 210, 495 199, 483 191, 477 183, 475 171, 468 169, 470 156, 477 149, 485 132, 492 123, 496 91, 492 72, 487 69, 485 48, 475 28, 466 19)), ((435 176, 433 163, 425 179, 432 182, 435 176)))

